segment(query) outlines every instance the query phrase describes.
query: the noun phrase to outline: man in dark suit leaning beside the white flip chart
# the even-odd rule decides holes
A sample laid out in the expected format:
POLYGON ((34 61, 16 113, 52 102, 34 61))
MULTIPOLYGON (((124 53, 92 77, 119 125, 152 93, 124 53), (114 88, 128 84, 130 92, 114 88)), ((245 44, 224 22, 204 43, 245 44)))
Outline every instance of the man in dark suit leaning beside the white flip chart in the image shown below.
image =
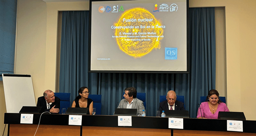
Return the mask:
POLYGON ((46 90, 44 92, 44 96, 38 98, 37 106, 42 107, 44 111, 48 111, 51 113, 59 113, 60 101, 60 98, 55 97, 53 91, 46 90))

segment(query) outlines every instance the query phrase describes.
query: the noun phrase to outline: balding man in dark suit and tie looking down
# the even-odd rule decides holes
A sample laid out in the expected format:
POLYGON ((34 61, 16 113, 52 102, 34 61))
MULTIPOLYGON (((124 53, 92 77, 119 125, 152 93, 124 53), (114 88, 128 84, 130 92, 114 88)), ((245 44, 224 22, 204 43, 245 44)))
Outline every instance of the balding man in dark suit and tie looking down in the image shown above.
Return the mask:
POLYGON ((184 103, 176 101, 176 93, 174 91, 168 91, 166 100, 159 103, 160 112, 163 110, 185 110, 184 103))

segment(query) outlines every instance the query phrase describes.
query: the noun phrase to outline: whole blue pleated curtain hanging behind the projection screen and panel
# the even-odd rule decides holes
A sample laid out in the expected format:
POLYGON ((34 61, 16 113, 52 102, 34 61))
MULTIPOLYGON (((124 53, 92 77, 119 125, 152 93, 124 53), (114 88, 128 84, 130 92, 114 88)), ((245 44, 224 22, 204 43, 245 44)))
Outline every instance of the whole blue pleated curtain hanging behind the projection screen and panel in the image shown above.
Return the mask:
POLYGON ((190 74, 88 74, 88 11, 63 12, 60 92, 71 93, 73 101, 78 89, 87 86, 91 94, 102 95, 101 114, 112 115, 124 89, 135 87, 137 92, 146 93, 146 115, 155 116, 159 96, 174 90, 177 95, 185 96, 186 110, 190 111, 190 117, 196 117, 200 96, 215 89, 215 15, 214 8, 191 8, 189 13, 190 74), (85 17, 83 21, 77 18, 81 14, 85 17), (75 21, 78 24, 72 24, 75 21))

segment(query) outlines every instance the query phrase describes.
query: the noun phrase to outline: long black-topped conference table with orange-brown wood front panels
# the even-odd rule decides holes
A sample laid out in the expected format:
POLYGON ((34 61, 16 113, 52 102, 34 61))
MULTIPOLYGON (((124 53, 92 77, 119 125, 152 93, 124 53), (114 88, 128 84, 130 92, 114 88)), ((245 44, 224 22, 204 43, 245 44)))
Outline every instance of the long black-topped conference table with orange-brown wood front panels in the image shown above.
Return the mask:
POLYGON ((118 126, 118 116, 82 115, 81 125, 68 125, 68 114, 33 114, 33 123, 20 123, 21 113, 5 113, 8 136, 255 136, 256 121, 243 120, 243 132, 227 131, 226 119, 183 118, 183 129, 169 128, 168 117, 132 116, 132 126, 118 126))

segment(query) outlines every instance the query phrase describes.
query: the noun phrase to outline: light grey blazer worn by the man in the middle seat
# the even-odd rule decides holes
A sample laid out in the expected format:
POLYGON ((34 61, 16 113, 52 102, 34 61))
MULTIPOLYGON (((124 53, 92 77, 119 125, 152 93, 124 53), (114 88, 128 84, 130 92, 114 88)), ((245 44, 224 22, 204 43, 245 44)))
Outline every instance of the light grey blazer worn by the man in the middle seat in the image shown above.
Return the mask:
MULTIPOLYGON (((117 108, 126 108, 127 104, 128 104, 127 101, 125 101, 125 99, 122 99, 117 108)), ((139 116, 141 116, 142 110, 143 109, 145 110, 143 102, 137 98, 133 99, 132 108, 137 108, 137 115, 139 116)))

